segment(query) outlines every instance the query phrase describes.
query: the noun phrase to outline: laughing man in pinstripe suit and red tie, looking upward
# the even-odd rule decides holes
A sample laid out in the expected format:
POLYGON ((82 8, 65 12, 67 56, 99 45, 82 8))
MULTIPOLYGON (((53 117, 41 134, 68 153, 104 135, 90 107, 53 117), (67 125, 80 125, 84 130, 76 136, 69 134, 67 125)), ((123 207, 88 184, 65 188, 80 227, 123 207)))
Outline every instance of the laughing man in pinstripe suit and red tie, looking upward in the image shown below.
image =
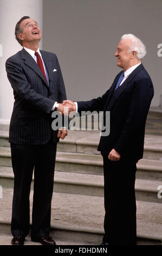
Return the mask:
POLYGON ((23 245, 29 233, 29 194, 34 170, 31 240, 55 245, 49 231, 56 145, 67 130, 51 129, 51 111, 62 110, 58 102, 66 100, 66 91, 56 55, 38 48, 41 29, 37 22, 29 16, 22 17, 15 36, 23 49, 6 62, 15 98, 9 131, 15 176, 11 243, 23 245))

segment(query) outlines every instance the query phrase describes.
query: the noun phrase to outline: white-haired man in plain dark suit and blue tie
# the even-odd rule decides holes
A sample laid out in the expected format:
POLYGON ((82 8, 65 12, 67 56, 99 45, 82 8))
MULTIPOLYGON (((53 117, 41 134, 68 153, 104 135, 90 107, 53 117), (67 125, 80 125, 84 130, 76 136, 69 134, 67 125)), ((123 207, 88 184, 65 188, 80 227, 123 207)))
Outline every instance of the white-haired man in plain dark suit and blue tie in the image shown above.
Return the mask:
POLYGON ((153 97, 153 84, 141 63, 145 45, 132 34, 123 35, 115 52, 123 70, 102 97, 90 101, 64 101, 70 111, 110 112, 110 133, 101 136, 103 156, 105 235, 102 245, 135 245, 136 164, 144 150, 145 123, 153 97))

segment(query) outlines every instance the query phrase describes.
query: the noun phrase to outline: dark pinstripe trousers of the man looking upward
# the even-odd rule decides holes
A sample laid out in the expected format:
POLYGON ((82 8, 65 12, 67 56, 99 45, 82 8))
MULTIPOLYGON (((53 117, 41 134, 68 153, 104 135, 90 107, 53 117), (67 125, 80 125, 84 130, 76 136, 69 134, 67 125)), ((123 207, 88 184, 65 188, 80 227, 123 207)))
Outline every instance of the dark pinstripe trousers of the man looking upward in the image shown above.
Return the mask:
POLYGON ((30 230, 30 186, 34 171, 31 238, 49 235, 53 196, 56 143, 43 145, 11 143, 14 170, 11 233, 27 236, 30 230))

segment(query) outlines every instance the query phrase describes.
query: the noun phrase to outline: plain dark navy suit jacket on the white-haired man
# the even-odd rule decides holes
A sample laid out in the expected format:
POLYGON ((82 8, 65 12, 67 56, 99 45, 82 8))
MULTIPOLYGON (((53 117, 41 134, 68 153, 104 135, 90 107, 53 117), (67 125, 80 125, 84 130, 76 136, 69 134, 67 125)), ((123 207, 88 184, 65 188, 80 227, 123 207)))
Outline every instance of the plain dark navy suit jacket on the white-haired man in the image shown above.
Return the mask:
POLYGON ((102 155, 108 155, 115 149, 122 158, 138 161, 144 150, 145 124, 154 94, 153 84, 140 64, 114 91, 121 72, 102 97, 77 102, 78 111, 110 111, 110 133, 106 137, 101 136, 98 150, 102 155))

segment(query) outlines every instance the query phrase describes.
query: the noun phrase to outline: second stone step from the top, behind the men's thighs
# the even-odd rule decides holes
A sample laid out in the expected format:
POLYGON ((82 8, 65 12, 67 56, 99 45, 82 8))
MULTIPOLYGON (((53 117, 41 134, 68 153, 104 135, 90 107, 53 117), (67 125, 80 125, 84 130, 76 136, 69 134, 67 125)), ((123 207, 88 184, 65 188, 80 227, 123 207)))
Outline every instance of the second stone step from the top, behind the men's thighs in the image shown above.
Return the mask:
MULTIPOLYGON (((0 166, 11 167, 9 147, 0 147, 0 166)), ((57 151, 55 169, 63 172, 102 175, 102 156, 57 151)), ((162 161, 150 159, 139 160, 137 163, 137 178, 162 181, 162 161)))

